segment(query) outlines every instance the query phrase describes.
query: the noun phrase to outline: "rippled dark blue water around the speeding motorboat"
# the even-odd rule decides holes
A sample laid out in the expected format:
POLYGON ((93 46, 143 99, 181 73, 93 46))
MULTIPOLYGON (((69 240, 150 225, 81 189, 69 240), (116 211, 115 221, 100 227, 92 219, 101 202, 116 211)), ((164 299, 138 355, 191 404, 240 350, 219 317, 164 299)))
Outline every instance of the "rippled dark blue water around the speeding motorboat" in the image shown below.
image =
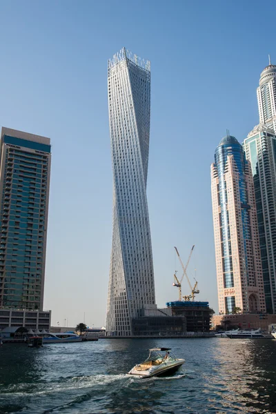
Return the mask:
POLYGON ((0 347, 0 413, 276 413, 276 341, 100 339, 0 347), (173 348, 172 377, 128 377, 146 349, 173 348))

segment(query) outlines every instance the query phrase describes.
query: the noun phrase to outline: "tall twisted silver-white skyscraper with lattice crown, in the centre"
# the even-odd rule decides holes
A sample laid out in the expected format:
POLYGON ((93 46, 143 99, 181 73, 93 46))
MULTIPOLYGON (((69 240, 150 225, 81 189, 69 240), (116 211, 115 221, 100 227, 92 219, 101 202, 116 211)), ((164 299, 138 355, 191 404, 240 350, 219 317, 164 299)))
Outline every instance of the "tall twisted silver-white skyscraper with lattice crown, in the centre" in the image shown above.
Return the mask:
POLYGON ((146 199, 150 138, 150 62, 125 48, 108 61, 113 170, 113 233, 107 335, 132 335, 132 318, 155 308, 146 199))

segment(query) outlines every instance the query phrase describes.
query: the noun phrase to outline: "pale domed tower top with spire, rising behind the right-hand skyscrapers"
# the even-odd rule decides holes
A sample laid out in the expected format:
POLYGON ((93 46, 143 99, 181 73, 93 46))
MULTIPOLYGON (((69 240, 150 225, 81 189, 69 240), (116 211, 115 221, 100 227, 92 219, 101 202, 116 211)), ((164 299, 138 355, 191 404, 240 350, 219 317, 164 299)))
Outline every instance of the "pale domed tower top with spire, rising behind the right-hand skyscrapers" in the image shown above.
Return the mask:
POLYGON ((259 124, 266 124, 276 132, 276 65, 264 68, 257 88, 259 124))

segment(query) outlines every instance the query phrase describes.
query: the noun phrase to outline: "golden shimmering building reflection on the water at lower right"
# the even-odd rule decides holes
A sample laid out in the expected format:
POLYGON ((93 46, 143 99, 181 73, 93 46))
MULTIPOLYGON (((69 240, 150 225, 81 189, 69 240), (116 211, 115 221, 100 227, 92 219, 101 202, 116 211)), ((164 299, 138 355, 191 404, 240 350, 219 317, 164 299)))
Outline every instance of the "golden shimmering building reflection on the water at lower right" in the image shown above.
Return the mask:
POLYGON ((206 386, 221 397, 225 408, 237 406, 240 411, 244 406, 246 413, 249 407, 256 413, 275 410, 275 351, 276 342, 272 340, 219 339, 215 372, 206 386))

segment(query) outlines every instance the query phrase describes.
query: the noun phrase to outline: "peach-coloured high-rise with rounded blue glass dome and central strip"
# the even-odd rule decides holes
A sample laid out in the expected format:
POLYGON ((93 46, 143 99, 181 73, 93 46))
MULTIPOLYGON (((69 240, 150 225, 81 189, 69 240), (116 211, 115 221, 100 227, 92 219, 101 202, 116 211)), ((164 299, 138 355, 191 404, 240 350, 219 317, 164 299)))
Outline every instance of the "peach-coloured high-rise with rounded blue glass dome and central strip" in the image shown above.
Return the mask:
POLYGON ((221 139, 211 181, 219 313, 264 313, 253 176, 235 137, 221 139))

